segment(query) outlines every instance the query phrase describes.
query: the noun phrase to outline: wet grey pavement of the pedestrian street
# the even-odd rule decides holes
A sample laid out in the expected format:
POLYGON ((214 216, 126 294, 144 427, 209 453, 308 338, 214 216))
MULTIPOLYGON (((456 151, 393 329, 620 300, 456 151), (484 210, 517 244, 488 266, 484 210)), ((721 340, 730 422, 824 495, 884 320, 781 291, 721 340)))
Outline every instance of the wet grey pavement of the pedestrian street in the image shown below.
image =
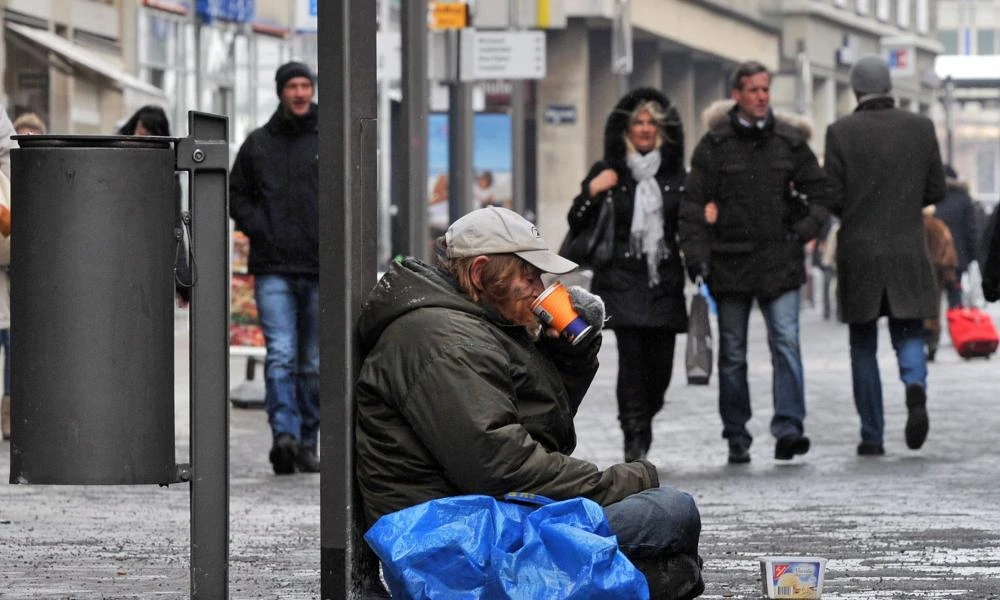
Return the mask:
MULTIPOLYGON (((1000 307, 991 307, 1000 320, 1000 307)), ((187 360, 186 315, 178 313, 178 362, 187 360)), ((674 381, 654 423, 650 459, 661 481, 689 491, 703 519, 705 598, 759 598, 757 558, 828 559, 827 599, 1000 599, 1000 368, 959 358, 943 334, 930 365, 930 435, 903 442, 905 407, 882 326, 886 455, 860 458, 851 397, 847 330, 802 313, 812 449, 773 458, 767 432, 771 368, 763 322, 751 321, 750 382, 755 443, 749 465, 726 464, 716 410, 717 374, 688 386, 683 336, 674 381)), ((577 419, 577 456, 620 460, 613 335, 577 419)), ((244 359, 232 361, 232 383, 244 359)), ((177 377, 177 461, 187 462, 187 385, 177 377)), ((234 408, 230 432, 230 595, 319 597, 319 476, 275 477, 264 413, 234 408)), ((0 449, 6 482, 9 450, 0 449)), ((187 485, 18 486, 0 483, 0 598, 186 598, 190 501, 187 485)))

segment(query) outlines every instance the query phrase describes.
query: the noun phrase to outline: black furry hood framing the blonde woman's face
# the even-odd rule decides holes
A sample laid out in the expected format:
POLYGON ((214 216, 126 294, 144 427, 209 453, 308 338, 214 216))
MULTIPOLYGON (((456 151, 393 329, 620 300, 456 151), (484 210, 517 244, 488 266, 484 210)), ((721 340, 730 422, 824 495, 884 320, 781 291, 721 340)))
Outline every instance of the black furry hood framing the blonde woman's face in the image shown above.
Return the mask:
POLYGON ((660 170, 683 172, 684 168, 684 127, 677 108, 659 90, 637 88, 622 96, 608 115, 604 126, 604 160, 615 169, 626 171, 625 134, 628 133, 629 117, 639 104, 652 100, 663 107, 665 126, 664 140, 660 146, 663 157, 660 170))

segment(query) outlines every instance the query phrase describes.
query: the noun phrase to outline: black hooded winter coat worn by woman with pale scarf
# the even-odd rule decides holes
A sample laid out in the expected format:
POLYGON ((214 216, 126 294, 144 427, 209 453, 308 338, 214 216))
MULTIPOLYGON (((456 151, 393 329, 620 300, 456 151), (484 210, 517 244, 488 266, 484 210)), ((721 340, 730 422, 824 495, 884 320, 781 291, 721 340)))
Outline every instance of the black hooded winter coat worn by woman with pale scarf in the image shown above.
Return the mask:
POLYGON ((684 191, 684 129, 677 109, 666 96, 651 88, 640 88, 626 94, 615 106, 604 127, 604 158, 590 168, 569 211, 571 231, 597 219, 601 203, 590 197, 590 181, 608 168, 618 174, 618 185, 605 192, 610 194, 614 204, 614 257, 607 267, 595 269, 591 284, 591 290, 604 300, 609 317, 607 327, 665 327, 674 332, 687 331, 684 269, 677 246, 677 209, 684 191), (625 135, 630 115, 639 104, 648 100, 657 102, 666 115, 665 139, 658 150, 662 160, 656 181, 663 192, 663 238, 669 250, 667 258, 660 261, 660 283, 652 288, 649 287, 646 258, 630 252, 637 182, 625 162, 625 135))

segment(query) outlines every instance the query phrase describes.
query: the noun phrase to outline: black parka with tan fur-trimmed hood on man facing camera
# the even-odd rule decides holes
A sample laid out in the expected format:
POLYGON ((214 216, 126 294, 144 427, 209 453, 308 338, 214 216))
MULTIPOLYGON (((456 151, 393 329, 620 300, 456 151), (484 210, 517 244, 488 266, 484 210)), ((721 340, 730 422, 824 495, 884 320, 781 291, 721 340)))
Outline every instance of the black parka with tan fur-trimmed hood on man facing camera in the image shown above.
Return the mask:
POLYGON ((691 157, 681 248, 689 265, 708 271, 714 295, 774 298, 805 283, 803 245, 826 220, 826 178, 808 122, 769 113, 763 127, 747 126, 737 108, 719 101, 703 115, 708 132, 691 157), (708 202, 718 207, 714 225, 705 221, 708 202))

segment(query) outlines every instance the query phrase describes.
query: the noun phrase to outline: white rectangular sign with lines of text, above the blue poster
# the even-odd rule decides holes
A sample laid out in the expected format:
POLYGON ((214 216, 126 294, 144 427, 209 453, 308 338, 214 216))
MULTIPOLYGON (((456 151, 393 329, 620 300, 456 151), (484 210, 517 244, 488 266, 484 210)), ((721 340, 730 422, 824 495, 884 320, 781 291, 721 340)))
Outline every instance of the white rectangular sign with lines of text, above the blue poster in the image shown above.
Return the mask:
POLYGON ((460 79, 544 79, 544 31, 461 33, 460 79))

